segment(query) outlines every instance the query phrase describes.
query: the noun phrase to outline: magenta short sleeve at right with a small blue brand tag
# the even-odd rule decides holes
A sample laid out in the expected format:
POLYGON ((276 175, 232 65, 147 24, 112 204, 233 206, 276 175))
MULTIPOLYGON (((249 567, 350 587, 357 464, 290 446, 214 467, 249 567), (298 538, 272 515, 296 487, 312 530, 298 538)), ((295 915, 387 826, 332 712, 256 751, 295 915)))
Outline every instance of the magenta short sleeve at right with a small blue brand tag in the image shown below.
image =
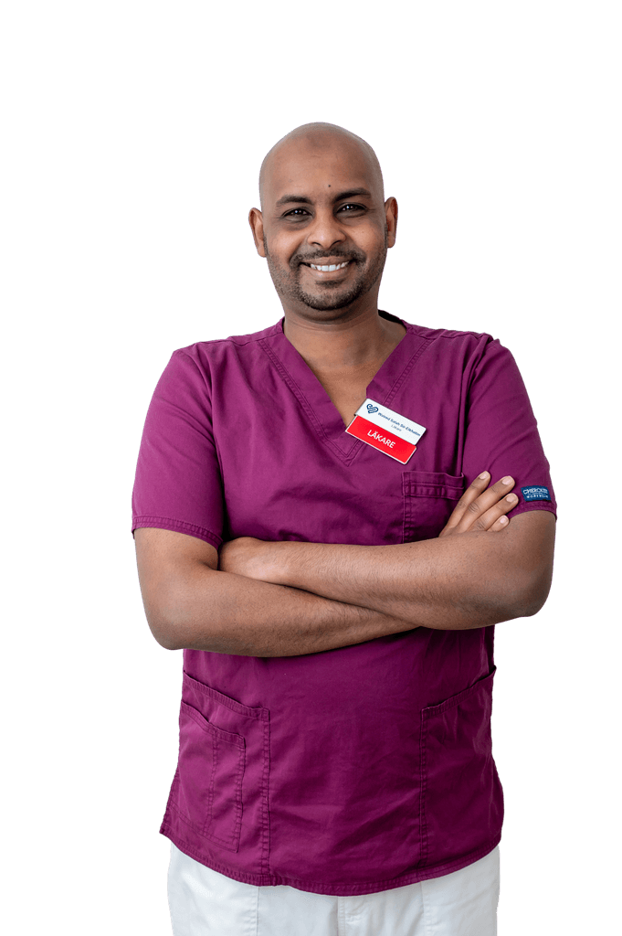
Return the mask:
POLYGON ((492 482, 514 478, 518 504, 508 515, 550 510, 557 501, 550 466, 523 377, 512 353, 491 340, 473 369, 467 410, 463 473, 469 485, 489 471, 492 482))

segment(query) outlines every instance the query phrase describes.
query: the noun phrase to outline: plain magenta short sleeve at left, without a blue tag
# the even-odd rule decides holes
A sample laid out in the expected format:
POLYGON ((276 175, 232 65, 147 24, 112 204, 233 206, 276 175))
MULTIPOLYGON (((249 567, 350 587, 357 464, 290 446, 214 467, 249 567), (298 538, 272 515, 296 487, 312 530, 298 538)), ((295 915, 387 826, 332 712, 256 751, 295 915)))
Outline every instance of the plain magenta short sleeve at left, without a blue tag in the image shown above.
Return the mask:
POLYGON ((181 349, 158 380, 145 418, 132 491, 132 535, 138 527, 157 527, 218 549, 223 523, 210 373, 181 349))

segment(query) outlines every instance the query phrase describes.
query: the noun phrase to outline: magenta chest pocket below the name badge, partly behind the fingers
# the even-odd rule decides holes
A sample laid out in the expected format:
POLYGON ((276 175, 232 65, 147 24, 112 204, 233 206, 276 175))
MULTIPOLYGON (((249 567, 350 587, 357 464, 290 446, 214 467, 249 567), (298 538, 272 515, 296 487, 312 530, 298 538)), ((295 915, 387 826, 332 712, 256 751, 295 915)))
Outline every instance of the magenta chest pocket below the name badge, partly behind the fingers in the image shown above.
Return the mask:
POLYGON ((404 543, 436 539, 465 489, 465 476, 442 472, 402 473, 404 543))

